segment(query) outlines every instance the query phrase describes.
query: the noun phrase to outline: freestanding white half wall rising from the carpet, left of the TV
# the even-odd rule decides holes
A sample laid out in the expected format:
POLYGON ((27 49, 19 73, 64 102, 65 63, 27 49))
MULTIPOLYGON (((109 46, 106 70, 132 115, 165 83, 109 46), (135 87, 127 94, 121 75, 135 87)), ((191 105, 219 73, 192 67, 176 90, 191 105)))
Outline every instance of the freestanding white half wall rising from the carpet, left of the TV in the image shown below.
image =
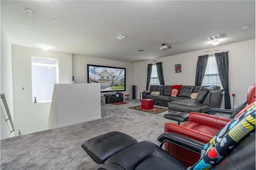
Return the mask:
POLYGON ((49 128, 101 119, 100 84, 55 84, 49 128))

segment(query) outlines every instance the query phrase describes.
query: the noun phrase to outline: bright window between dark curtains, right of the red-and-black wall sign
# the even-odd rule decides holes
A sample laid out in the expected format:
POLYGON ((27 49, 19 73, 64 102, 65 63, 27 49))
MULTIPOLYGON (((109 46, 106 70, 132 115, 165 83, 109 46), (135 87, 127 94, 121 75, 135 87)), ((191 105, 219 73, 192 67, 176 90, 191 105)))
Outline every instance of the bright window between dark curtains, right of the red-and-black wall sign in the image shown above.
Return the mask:
POLYGON ((215 56, 209 56, 202 86, 217 85, 222 88, 215 56))

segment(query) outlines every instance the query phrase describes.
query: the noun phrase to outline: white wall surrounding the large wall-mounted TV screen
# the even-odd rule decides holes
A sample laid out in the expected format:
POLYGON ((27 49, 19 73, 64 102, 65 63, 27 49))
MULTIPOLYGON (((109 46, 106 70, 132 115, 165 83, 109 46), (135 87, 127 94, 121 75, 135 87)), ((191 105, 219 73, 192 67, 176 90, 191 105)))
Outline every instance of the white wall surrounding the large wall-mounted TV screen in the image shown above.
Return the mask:
MULTIPOLYGON (((104 56, 102 56, 104 58, 104 56)), ((133 84, 133 63, 106 60, 102 58, 92 58, 87 56, 72 55, 72 69, 75 76, 75 83, 87 83, 87 64, 126 68, 126 91, 132 98, 133 84)), ((101 93, 101 96, 105 94, 101 93)))

